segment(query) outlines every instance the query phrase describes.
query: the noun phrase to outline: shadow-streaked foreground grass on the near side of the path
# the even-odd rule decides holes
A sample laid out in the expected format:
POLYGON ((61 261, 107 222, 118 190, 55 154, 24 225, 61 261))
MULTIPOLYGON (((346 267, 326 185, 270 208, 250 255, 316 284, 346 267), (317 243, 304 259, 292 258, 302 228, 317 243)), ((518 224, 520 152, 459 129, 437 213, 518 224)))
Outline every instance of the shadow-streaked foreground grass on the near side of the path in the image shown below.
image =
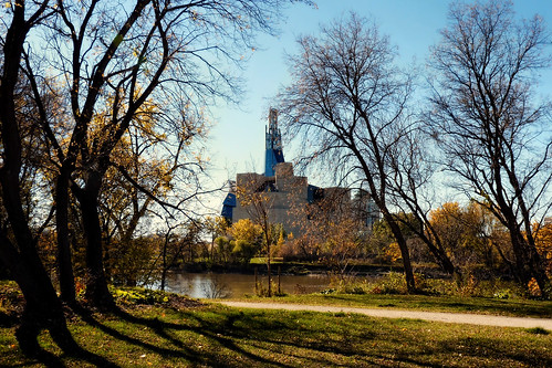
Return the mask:
MULTIPOLYGON (((142 306, 129 315, 75 317, 86 350, 121 367, 550 367, 552 336, 521 328, 450 325, 360 315, 142 306)), ((70 367, 93 366, 40 343, 70 367)), ((39 367, 13 327, 0 327, 0 366, 39 367)))

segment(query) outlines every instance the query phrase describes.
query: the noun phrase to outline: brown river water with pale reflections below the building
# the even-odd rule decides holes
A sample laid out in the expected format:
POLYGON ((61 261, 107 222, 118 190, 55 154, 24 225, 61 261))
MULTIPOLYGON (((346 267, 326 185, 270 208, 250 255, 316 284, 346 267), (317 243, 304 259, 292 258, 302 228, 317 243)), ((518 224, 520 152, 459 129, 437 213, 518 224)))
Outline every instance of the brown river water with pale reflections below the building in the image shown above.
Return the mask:
MULTIPOLYGON (((265 275, 258 276, 264 285, 268 284, 265 275)), ((272 276, 272 282, 278 285, 278 275, 272 276)), ((244 274, 216 274, 216 273, 170 273, 167 275, 166 290, 168 292, 186 294, 197 298, 240 297, 254 294, 254 275, 244 274)), ((326 275, 282 275, 281 290, 287 294, 316 293, 330 285, 326 275)))

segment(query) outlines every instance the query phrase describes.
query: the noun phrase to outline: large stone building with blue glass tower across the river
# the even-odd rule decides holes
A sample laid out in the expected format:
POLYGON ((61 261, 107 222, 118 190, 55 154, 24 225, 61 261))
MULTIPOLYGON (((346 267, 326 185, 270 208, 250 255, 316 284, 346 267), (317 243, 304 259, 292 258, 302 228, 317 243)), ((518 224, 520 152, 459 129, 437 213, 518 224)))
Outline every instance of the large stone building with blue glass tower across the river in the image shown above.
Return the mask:
POLYGON ((294 234, 300 234, 302 225, 312 215, 320 215, 320 211, 325 211, 325 215, 347 211, 358 219, 361 230, 372 229, 379 218, 367 192, 358 191, 352 198, 347 188, 320 188, 310 185, 306 177, 294 175, 293 165, 284 161, 278 111, 272 108, 265 130, 264 174, 238 174, 236 181, 230 182, 221 212, 230 222, 251 218, 251 204, 241 203, 237 196, 242 191, 262 192, 268 200, 270 223, 281 223, 294 234))

